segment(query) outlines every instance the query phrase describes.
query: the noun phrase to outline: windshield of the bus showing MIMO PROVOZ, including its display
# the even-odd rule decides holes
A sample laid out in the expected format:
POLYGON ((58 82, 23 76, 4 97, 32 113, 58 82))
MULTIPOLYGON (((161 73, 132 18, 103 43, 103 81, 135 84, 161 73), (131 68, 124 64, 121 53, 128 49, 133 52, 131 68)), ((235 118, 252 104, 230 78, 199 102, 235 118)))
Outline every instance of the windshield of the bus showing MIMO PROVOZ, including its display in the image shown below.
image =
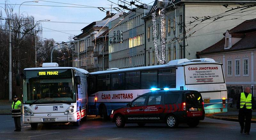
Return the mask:
POLYGON ((25 103, 75 102, 76 90, 71 69, 24 71, 25 103))

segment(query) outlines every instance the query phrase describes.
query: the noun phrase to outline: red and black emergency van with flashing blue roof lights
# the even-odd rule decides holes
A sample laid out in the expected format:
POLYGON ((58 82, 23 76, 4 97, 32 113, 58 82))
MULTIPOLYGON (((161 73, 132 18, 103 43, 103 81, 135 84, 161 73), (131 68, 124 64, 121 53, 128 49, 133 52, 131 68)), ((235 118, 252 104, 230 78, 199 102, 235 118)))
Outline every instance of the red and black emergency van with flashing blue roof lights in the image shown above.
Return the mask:
POLYGON ((125 123, 144 126, 164 122, 167 127, 176 128, 180 122, 195 127, 199 120, 204 120, 204 114, 204 102, 198 91, 152 88, 127 106, 112 110, 110 117, 117 127, 124 127, 125 123))

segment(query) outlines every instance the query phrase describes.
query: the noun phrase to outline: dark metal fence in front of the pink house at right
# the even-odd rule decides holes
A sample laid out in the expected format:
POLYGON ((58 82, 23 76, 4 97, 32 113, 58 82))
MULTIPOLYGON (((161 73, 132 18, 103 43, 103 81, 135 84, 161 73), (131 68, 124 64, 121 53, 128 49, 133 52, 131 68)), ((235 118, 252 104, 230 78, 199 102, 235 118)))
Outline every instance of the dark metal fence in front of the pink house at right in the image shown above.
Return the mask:
POLYGON ((254 100, 256 100, 256 85, 227 85, 228 98, 233 98, 236 102, 238 95, 244 92, 244 88, 249 87, 254 100))

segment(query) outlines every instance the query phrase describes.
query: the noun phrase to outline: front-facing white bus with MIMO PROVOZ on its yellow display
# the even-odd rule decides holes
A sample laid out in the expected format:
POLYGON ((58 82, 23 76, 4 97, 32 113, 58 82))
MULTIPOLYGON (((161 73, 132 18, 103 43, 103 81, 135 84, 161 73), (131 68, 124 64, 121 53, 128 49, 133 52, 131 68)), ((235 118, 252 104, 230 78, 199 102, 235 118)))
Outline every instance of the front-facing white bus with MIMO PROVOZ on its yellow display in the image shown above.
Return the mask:
POLYGON ((38 123, 52 122, 78 126, 87 113, 87 74, 84 69, 58 67, 57 63, 25 68, 23 123, 30 123, 32 129, 38 123))

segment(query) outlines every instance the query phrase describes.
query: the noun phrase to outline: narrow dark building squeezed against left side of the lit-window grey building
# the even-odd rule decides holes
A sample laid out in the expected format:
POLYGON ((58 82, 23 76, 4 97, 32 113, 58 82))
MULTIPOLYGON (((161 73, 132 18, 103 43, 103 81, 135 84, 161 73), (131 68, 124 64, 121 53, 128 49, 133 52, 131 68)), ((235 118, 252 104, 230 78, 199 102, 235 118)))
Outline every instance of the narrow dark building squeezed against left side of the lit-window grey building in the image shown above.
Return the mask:
MULTIPOLYGON (((93 40, 92 42, 95 42, 93 40)), ((108 30, 96 38, 96 47, 93 51, 94 71, 104 71, 108 69, 108 30)))

